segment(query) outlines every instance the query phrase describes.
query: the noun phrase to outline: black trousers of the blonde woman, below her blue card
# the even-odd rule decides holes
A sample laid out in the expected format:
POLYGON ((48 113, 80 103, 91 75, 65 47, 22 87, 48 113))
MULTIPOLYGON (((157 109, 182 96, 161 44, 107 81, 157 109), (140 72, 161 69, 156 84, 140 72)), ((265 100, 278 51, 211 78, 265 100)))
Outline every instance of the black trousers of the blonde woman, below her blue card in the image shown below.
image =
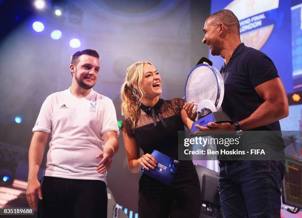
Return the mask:
POLYGON ((170 185, 142 175, 138 206, 140 218, 198 218, 201 193, 192 162, 181 162, 170 185))

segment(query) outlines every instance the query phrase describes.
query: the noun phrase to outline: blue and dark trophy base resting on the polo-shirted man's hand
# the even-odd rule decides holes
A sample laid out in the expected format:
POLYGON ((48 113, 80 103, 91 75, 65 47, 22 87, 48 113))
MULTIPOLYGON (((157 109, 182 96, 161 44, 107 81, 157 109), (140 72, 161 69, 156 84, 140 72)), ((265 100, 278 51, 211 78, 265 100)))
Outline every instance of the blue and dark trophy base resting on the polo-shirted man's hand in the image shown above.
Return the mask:
POLYGON ((233 121, 223 112, 223 111, 216 111, 205 115, 204 117, 198 119, 192 124, 190 134, 194 134, 196 131, 200 131, 195 124, 199 126, 208 126, 208 123, 215 122, 215 123, 233 123, 233 121))

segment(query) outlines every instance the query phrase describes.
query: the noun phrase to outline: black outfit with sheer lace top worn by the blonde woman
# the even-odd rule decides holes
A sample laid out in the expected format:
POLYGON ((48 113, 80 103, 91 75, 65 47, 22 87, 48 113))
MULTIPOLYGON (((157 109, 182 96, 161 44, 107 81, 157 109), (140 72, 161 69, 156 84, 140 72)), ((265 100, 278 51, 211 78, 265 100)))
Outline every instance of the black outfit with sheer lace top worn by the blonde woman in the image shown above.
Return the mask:
MULTIPOLYGON (((158 150, 178 159, 178 131, 184 131, 181 109, 184 100, 159 99, 154 107, 141 105, 134 125, 129 119, 123 122, 129 137, 144 153, 158 150)), ((198 218, 201 199, 199 180, 193 163, 181 161, 170 185, 146 175, 139 182, 140 218, 198 218)))

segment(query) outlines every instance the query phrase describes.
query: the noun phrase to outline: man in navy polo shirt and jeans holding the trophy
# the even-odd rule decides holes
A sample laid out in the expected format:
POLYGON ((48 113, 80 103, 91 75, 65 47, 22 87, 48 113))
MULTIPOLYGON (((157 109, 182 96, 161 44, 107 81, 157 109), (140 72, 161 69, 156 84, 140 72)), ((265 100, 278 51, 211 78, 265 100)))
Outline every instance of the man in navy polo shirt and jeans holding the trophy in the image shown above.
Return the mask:
MULTIPOLYGON (((207 18, 203 43, 220 55, 225 95, 222 108, 234 121, 197 127, 211 131, 280 130, 288 116, 284 86, 273 62, 261 51, 241 43, 239 21, 230 10, 207 18)), ((277 51, 276 51, 277 52, 277 51)), ((193 104, 184 108, 189 116, 193 104)), ((220 200, 224 218, 280 218, 282 161, 223 161, 220 163, 220 200)))

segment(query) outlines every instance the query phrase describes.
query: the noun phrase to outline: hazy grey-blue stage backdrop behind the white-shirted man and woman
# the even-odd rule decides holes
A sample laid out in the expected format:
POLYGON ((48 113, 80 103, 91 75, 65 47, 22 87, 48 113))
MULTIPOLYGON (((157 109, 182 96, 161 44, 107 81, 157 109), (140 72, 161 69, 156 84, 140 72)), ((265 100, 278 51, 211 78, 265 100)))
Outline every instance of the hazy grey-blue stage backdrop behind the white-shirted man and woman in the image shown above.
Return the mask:
MULTIPOLYGON (((128 66, 151 61, 162 77, 162 98, 183 98, 187 74, 200 57, 207 57, 207 45, 201 40, 209 0, 65 0, 61 17, 53 13, 55 2, 59 1, 47 1, 41 11, 31 9, 34 12, 25 20, 20 14, 13 16, 11 23, 19 25, 0 41, 0 142, 29 148, 45 98, 70 87, 70 58, 78 50, 92 48, 100 53, 94 90, 113 100, 118 120, 122 120, 119 92, 128 66), (33 30, 35 21, 44 24, 42 32, 33 30), (62 37, 52 39, 53 30, 60 30, 62 37), (72 38, 80 40, 78 48, 69 45, 72 38), (17 115, 22 123, 15 122, 17 115)), ((7 3, 12 4, 2 11, 7 18, 16 10, 33 7, 10 0, 0 1, 0 7, 7 3)), ((140 174, 128 171, 122 136, 119 142, 108 186, 118 204, 136 213, 140 174)), ((18 179, 27 180, 24 166, 17 170, 18 179)))

